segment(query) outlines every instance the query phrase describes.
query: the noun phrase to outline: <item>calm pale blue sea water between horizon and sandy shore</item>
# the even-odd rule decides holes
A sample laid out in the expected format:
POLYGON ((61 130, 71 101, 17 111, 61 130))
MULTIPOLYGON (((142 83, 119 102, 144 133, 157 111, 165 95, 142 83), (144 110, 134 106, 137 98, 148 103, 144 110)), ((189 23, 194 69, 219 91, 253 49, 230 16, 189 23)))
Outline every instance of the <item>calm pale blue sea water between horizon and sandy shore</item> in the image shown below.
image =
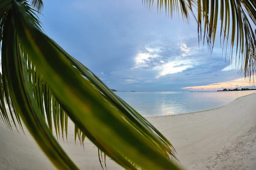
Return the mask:
POLYGON ((256 91, 228 92, 115 92, 144 117, 204 111, 227 105, 256 91))

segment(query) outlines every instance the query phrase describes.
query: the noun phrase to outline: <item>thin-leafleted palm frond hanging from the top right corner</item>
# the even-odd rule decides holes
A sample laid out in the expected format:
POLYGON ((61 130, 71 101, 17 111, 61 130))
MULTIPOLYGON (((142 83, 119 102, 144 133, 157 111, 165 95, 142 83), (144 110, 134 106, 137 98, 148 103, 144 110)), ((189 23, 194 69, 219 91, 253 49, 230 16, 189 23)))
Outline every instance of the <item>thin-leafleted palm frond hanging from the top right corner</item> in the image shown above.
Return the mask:
MULTIPOLYGON (((150 6, 154 3, 153 0, 143 2, 150 6)), ((166 13, 171 14, 180 9, 185 20, 189 19, 189 11, 192 12, 198 22, 198 40, 207 42, 210 51, 215 44, 216 31, 220 28, 224 53, 229 53, 231 61, 235 57, 236 65, 241 65, 239 73, 249 79, 253 77, 256 69, 256 31, 251 25, 256 26, 255 0, 157 0, 157 7, 159 10, 164 7, 166 13)))

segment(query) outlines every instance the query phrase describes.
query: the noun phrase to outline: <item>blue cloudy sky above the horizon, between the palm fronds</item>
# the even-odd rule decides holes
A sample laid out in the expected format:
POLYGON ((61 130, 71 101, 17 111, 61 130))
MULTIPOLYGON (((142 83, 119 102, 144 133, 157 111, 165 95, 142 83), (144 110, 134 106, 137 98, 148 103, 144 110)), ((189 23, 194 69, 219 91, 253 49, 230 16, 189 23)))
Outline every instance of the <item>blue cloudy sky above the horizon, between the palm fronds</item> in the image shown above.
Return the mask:
POLYGON ((235 60, 198 43, 197 23, 146 8, 141 0, 44 0, 45 33, 118 91, 254 88, 235 60))

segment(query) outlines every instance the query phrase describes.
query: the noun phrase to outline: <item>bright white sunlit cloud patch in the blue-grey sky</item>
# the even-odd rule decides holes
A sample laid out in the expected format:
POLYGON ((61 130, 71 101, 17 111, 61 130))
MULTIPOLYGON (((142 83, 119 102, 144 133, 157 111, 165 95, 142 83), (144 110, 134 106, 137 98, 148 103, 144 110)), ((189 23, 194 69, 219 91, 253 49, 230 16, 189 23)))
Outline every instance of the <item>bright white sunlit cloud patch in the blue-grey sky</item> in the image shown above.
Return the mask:
POLYGON ((160 78, 168 74, 183 72, 199 64, 199 62, 196 63, 197 59, 189 59, 195 53, 195 49, 198 49, 197 45, 188 47, 182 41, 172 45, 169 43, 160 42, 145 46, 134 57, 135 65, 131 69, 143 67, 154 72, 152 75, 156 74, 155 78, 160 78))

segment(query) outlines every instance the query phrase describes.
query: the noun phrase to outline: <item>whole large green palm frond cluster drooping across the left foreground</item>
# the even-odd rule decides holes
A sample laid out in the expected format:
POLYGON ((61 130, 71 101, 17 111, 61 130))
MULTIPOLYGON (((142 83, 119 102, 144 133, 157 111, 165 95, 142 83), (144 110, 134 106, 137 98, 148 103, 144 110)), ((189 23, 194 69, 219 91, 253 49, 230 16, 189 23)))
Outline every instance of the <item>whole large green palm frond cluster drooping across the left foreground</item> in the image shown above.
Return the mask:
MULTIPOLYGON (((4 21, 2 91, 6 89, 13 101, 11 107, 52 163, 60 169, 77 169, 52 135, 55 129, 57 136, 64 138, 66 128, 67 137, 69 116, 76 125, 75 140, 78 136, 83 143, 86 136, 126 169, 179 169, 172 162, 172 144, 42 33, 31 11, 26 2, 12 0, 12 10, 4 21)), ((1 116, 8 122, 5 113, 1 111, 1 116)))

